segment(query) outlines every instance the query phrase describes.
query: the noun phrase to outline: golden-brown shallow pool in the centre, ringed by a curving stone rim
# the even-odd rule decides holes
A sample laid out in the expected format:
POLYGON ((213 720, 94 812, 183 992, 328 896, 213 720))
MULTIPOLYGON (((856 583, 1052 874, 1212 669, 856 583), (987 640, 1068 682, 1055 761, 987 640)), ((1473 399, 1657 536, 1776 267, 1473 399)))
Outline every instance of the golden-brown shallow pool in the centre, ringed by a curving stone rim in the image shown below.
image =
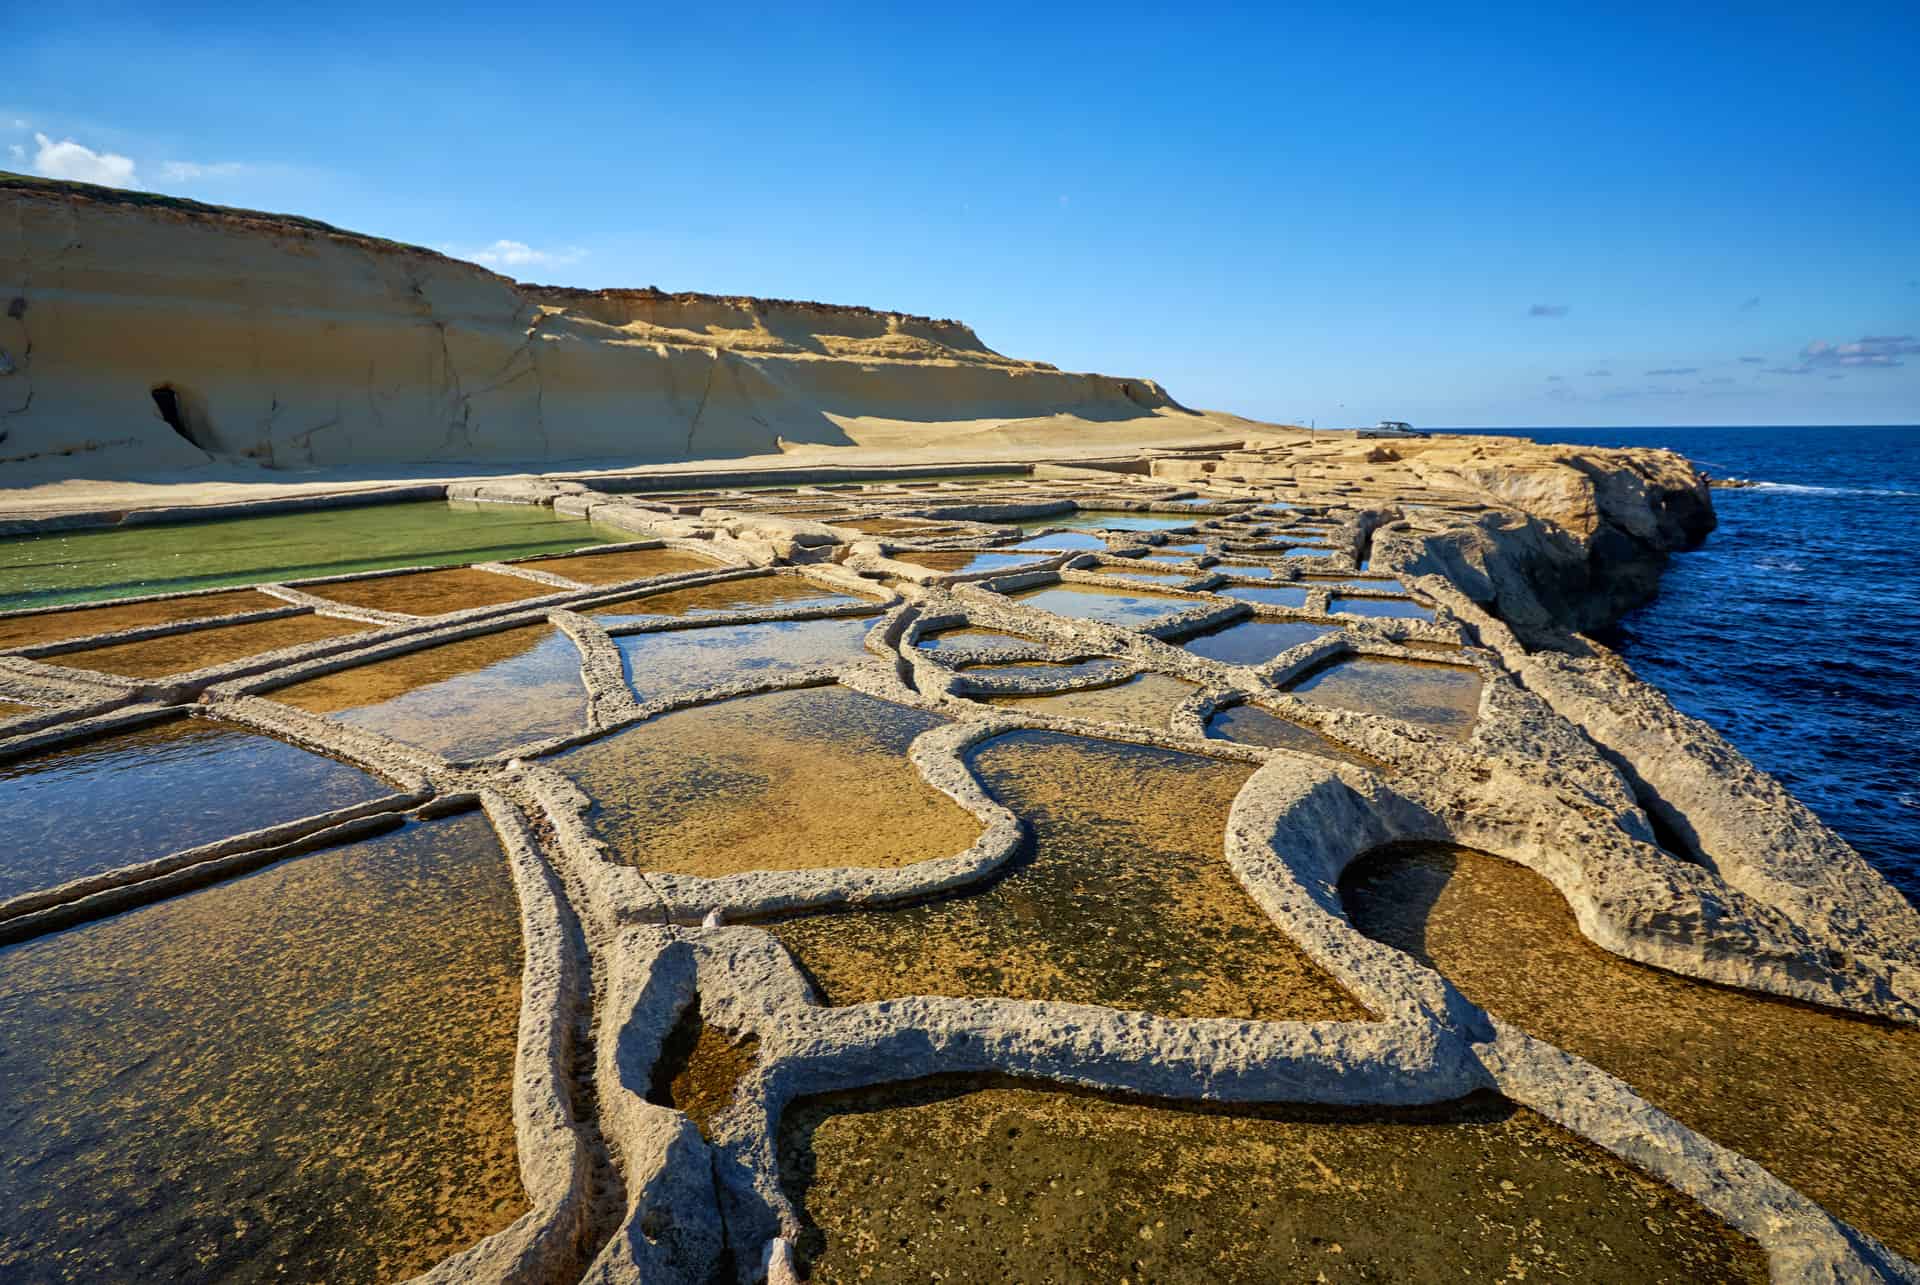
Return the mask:
POLYGON ((609 857, 641 870, 906 866, 979 837, 906 761, 943 722, 839 686, 799 688, 660 715, 547 763, 593 799, 609 857))

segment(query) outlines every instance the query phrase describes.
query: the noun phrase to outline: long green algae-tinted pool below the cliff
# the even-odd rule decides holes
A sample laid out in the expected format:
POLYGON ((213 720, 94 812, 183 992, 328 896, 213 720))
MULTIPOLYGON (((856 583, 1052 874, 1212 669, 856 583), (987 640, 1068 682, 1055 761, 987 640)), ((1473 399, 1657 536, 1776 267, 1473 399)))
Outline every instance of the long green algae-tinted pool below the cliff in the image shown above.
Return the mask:
POLYGON ((626 540, 534 505, 409 503, 0 540, 0 611, 568 553, 626 540))

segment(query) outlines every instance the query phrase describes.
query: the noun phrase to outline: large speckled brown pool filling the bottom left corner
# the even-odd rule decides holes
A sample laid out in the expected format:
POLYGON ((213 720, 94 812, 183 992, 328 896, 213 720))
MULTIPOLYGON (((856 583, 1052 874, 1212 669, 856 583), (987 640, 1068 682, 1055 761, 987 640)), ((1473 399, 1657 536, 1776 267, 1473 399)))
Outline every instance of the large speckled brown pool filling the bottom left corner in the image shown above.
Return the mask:
POLYGON ((396 1281, 526 1208, 478 814, 0 951, 0 1277, 396 1281))

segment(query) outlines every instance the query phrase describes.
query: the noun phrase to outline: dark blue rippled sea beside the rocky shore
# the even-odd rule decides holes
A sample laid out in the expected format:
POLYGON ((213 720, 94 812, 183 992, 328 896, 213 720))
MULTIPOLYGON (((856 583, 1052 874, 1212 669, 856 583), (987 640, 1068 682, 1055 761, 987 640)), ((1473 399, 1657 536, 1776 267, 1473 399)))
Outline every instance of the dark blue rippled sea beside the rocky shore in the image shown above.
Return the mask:
POLYGON ((1601 642, 1920 903, 1920 426, 1503 432, 1761 482, 1601 642))

